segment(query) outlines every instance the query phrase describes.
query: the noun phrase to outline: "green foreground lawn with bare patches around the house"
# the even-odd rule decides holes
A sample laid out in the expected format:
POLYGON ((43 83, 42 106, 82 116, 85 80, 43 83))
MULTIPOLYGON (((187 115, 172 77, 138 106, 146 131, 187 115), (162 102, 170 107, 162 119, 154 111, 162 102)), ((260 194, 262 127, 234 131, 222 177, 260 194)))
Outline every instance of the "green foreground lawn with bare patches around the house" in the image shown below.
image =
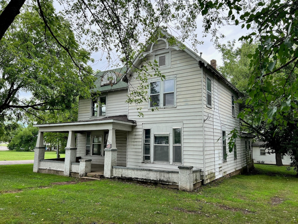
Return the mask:
POLYGON ((0 223, 297 223, 298 178, 285 167, 255 164, 194 192, 101 179, 32 173, 32 164, 0 166, 0 223))

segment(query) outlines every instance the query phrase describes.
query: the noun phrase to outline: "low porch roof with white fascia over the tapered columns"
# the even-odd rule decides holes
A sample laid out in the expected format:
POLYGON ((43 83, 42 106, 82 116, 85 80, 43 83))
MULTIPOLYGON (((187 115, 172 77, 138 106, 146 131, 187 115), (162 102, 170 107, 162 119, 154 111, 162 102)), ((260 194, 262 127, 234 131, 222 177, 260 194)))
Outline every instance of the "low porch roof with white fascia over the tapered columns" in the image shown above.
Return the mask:
POLYGON ((69 132, 73 131, 80 133, 81 131, 96 131, 96 130, 122 130, 131 131, 132 126, 136 125, 136 121, 128 120, 126 115, 110 116, 101 119, 83 120, 66 123, 53 123, 33 125, 38 127, 40 132, 69 132))

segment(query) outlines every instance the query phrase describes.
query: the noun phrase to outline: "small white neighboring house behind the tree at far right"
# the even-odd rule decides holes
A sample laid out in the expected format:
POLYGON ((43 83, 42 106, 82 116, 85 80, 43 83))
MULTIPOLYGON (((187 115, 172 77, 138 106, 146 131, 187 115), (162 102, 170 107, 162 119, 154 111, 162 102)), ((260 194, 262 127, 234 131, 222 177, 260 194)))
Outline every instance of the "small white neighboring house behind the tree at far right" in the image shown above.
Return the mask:
MULTIPOLYGON (((268 150, 261 147, 264 142, 252 143, 252 158, 254 163, 276 164, 275 154, 268 154, 268 150)), ((283 165, 290 165, 291 158, 289 155, 282 155, 283 165)))

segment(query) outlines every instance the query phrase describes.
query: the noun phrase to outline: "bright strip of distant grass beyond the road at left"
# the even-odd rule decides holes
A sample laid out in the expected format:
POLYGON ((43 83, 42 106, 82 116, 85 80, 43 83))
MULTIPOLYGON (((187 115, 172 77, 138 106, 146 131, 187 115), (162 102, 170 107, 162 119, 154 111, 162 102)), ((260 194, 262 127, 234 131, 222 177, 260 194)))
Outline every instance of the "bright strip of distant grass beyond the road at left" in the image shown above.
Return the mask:
MULTIPOLYGON (((60 154, 61 158, 65 157, 65 154, 60 154)), ((45 159, 57 158, 55 151, 46 151, 44 154, 45 159)), ((0 161, 4 160, 30 160, 34 159, 34 152, 17 152, 14 150, 0 151, 0 161)))

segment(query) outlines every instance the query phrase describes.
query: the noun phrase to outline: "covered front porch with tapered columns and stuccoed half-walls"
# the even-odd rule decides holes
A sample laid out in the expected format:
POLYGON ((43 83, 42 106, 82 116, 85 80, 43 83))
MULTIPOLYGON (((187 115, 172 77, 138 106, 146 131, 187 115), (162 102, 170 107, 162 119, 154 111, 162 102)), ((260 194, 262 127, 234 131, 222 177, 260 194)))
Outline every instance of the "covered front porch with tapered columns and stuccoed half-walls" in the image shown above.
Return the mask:
MULTIPOLYGON (((35 147, 33 171, 75 177, 83 177, 86 176, 87 173, 96 171, 97 174, 102 172, 101 174, 105 177, 111 177, 112 166, 116 166, 117 162, 119 162, 117 161, 118 149, 116 145, 116 135, 117 133, 118 136, 119 133, 122 135, 123 133, 127 134, 128 131, 132 130, 134 125, 135 122, 128 120, 126 116, 106 117, 103 119, 79 122, 35 125, 39 128, 39 133, 35 147), (65 159, 44 159, 44 132, 68 133, 67 145, 65 148, 65 159), (91 141, 91 154, 90 145, 86 145, 86 133, 96 134, 94 135, 97 140, 96 144, 92 144, 91 141), (102 135, 98 133, 106 133, 105 136, 107 138, 105 142, 102 142, 102 135), (77 142, 75 134, 77 134, 77 142), (80 138, 78 138, 78 136, 80 136, 80 138), (92 155, 93 146, 97 150, 96 154, 94 153, 94 156, 92 155), (101 160, 102 162, 98 162, 101 160)), ((123 151, 126 153, 127 150, 126 143, 124 144, 122 139, 118 139, 119 143, 117 143, 118 148, 122 148, 120 149, 119 157, 122 156, 123 151)), ((120 164, 123 166, 123 164, 126 164, 126 161, 125 163, 122 161, 120 164)))

